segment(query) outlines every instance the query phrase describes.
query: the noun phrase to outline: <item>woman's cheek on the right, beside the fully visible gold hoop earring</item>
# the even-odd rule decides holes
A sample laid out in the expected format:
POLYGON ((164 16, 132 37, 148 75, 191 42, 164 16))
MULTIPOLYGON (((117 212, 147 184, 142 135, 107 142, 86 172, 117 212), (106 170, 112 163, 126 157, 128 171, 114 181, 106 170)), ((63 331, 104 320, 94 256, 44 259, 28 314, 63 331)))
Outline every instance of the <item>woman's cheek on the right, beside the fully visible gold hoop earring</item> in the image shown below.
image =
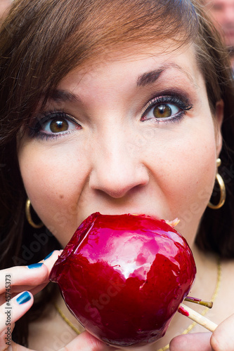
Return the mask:
POLYGON ((182 133, 162 141, 164 147, 158 148, 156 157, 154 152, 149 161, 170 218, 180 220, 176 230, 190 245, 211 197, 216 174, 214 127, 211 124, 204 131, 193 133, 193 138, 192 133, 182 133))

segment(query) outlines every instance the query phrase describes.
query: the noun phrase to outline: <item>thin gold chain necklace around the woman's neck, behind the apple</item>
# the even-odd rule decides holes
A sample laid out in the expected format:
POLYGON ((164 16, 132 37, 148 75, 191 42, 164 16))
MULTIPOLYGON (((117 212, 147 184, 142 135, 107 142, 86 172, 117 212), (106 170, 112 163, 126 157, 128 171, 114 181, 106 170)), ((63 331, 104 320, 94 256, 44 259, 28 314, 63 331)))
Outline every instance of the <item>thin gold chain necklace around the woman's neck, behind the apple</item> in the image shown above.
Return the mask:
MULTIPOLYGON (((212 303, 214 303, 214 300, 216 299, 216 297, 219 293, 220 284, 221 284, 221 262, 220 262, 220 259, 218 258, 218 261, 217 261, 217 281, 216 281, 216 287, 214 289, 213 296, 211 298, 212 303)), ((63 312, 60 310, 58 305, 55 305, 55 307, 56 307, 56 310, 58 311, 58 314, 60 314, 60 317, 62 317, 63 320, 70 326, 70 328, 72 328, 72 330, 79 335, 81 332, 74 326, 74 324, 72 324, 72 322, 70 322, 70 320, 65 316, 65 314, 63 314, 63 312)), ((205 314, 207 314, 208 311, 209 311, 209 307, 206 307, 206 308, 204 308, 204 310, 200 314, 202 314, 202 316, 204 316, 205 314)), ((197 323, 193 322, 181 334, 188 334, 195 327, 195 325, 197 325, 197 323)), ((160 349, 157 349, 155 351, 166 351, 166 350, 169 350, 169 344, 167 344, 166 346, 164 346, 160 349)))

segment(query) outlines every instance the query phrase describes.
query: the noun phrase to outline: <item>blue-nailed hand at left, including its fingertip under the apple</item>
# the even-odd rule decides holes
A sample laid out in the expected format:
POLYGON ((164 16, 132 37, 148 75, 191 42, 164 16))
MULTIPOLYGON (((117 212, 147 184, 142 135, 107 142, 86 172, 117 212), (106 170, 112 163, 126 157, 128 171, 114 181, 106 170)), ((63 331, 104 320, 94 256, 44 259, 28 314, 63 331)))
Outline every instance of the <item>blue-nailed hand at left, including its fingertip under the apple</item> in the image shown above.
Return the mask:
MULTIPOLYGON (((48 259, 35 265, 11 267, 0 271, 0 351, 29 350, 13 343, 11 333, 15 322, 32 306, 34 294, 48 284, 49 272, 60 253, 60 251, 54 251, 48 259)), ((64 350, 111 351, 115 349, 84 331, 60 351, 64 350)))

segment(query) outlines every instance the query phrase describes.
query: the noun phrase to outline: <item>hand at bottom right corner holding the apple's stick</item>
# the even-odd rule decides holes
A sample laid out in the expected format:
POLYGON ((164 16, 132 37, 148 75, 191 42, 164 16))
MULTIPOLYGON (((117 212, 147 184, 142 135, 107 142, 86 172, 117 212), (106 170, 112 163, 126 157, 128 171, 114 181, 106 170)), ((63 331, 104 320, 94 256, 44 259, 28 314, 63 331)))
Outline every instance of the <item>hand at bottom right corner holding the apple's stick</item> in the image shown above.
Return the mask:
POLYGON ((234 314, 214 333, 192 333, 171 340, 170 351, 234 351, 234 314))

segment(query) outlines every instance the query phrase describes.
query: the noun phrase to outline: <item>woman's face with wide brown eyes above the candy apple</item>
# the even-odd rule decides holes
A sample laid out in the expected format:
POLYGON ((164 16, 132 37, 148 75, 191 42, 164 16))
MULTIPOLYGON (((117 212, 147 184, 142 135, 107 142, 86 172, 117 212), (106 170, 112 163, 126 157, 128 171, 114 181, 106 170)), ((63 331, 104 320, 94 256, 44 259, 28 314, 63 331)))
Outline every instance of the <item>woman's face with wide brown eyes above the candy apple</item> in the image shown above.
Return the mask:
POLYGON ((157 45, 74 69, 19 146, 38 216, 64 246, 91 213, 179 218, 193 245, 212 194, 218 124, 193 46, 157 45))

